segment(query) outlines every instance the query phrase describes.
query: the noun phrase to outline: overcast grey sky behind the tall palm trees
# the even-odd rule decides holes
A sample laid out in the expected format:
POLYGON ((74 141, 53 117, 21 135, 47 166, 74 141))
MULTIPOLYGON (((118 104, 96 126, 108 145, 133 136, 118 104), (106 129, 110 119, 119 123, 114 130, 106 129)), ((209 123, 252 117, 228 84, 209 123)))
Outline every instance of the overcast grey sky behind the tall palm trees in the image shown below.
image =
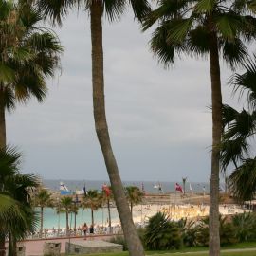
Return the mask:
MULTIPOLYGON (((44 103, 7 116, 8 143, 22 171, 46 179, 107 180, 94 130, 88 14, 70 13, 53 28, 64 46, 62 69, 47 81, 44 103)), ((210 64, 188 56, 164 68, 133 15, 103 24, 105 101, 122 180, 209 181, 210 64)), ((224 102, 235 103, 221 62, 224 102)))

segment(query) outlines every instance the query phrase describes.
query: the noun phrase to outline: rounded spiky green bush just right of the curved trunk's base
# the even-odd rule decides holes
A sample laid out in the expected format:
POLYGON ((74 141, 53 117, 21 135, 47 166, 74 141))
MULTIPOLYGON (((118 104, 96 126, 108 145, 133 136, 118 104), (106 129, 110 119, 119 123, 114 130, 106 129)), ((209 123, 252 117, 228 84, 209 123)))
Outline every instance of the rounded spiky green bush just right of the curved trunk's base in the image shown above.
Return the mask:
POLYGON ((161 212, 149 219, 144 241, 145 247, 153 250, 178 249, 182 244, 180 229, 161 212))

